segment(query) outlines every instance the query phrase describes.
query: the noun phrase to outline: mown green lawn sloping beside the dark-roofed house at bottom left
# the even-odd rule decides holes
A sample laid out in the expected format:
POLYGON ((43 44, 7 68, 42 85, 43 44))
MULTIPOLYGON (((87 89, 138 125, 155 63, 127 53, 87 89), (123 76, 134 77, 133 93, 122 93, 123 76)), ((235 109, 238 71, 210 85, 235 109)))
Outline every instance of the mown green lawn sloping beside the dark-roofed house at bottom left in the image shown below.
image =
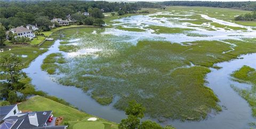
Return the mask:
MULTIPOLYGON (((89 122, 87 121, 87 118, 95 117, 89 114, 86 114, 82 111, 79 111, 75 108, 71 108, 66 105, 62 105, 58 102, 55 102, 53 100, 41 97, 41 96, 35 96, 30 99, 28 99, 25 102, 22 102, 18 105, 19 110, 32 110, 32 111, 43 111, 43 110, 52 110, 53 115, 55 117, 62 116, 63 117, 63 123, 68 122, 69 128, 81 128, 83 129, 85 126, 81 126, 84 123, 89 123, 88 127, 101 127, 102 129, 105 126, 102 126, 102 124, 109 124, 111 125, 111 128, 117 128, 117 124, 113 122, 106 121, 105 119, 98 118, 95 122, 89 122), (82 123, 78 124, 77 123, 82 123)), ((63 124, 62 123, 62 124, 63 124)))

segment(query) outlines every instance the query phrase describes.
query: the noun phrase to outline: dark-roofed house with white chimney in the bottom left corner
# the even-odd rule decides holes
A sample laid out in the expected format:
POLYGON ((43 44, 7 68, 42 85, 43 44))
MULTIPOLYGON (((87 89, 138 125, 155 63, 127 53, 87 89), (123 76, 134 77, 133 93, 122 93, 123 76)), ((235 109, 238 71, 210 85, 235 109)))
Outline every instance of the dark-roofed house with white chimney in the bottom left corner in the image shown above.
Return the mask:
POLYGON ((55 126, 52 110, 30 111, 22 113, 17 105, 0 107, 0 129, 9 128, 56 128, 66 129, 67 126, 55 126))

